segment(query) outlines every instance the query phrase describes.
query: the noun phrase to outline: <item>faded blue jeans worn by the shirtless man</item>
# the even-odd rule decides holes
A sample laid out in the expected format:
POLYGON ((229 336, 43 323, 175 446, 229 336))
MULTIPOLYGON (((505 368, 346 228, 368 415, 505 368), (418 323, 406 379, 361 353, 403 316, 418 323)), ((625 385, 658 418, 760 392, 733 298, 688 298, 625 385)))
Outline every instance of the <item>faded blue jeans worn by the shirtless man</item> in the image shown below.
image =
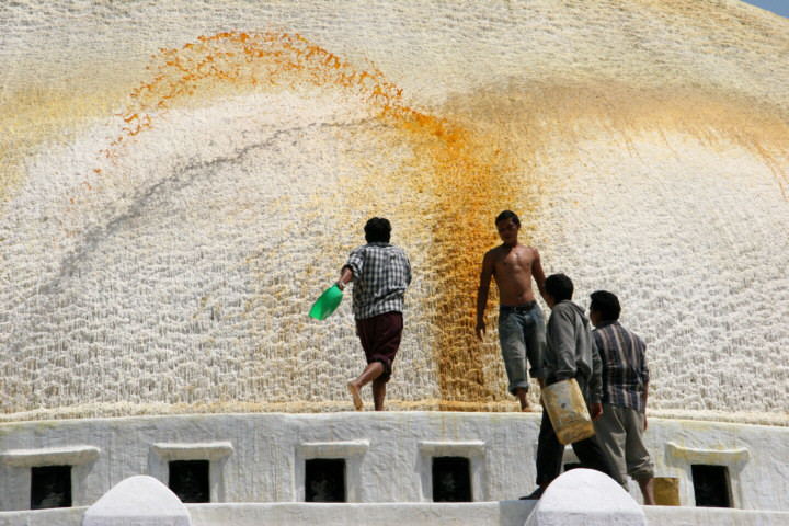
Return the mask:
POLYGON ((510 392, 515 395, 518 388, 528 390, 527 358, 531 366, 528 369, 531 377, 545 377, 545 316, 536 301, 518 307, 502 305, 499 308, 499 343, 510 380, 510 392))

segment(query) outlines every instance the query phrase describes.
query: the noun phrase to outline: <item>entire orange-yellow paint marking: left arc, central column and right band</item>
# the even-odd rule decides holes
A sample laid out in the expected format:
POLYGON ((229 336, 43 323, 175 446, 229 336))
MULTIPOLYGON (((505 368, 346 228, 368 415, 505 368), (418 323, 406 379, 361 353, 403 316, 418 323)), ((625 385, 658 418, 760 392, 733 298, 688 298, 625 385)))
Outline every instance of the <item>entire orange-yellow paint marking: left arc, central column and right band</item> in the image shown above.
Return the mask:
MULTIPOLYGON (((149 70, 150 80, 130 94, 123 114, 126 128, 105 152, 111 159, 170 108, 256 90, 341 93, 370 108, 385 142, 408 145, 413 156, 401 159, 401 165, 370 167, 368 173, 386 173, 387 184, 409 186, 413 199, 403 206, 421 214, 415 220, 431 230, 421 272, 435 291, 424 307, 435 331, 442 410, 490 411, 507 399, 492 334, 484 344, 473 334, 479 266, 482 254, 498 243, 493 219, 504 208, 522 215, 522 241, 531 241, 545 184, 557 184, 540 172, 546 157, 571 164, 575 145, 599 138, 619 138, 624 155, 637 156, 637 137, 661 134, 671 149, 679 134, 721 151, 743 147, 764 160, 782 191, 789 183, 786 117, 710 90, 663 93, 610 80, 512 82, 450 99, 439 114, 451 118, 442 118, 410 107, 402 90, 374 65, 356 67, 298 34, 282 32, 201 37, 161 50, 149 70)), ((492 327, 493 309, 489 312, 492 327)))

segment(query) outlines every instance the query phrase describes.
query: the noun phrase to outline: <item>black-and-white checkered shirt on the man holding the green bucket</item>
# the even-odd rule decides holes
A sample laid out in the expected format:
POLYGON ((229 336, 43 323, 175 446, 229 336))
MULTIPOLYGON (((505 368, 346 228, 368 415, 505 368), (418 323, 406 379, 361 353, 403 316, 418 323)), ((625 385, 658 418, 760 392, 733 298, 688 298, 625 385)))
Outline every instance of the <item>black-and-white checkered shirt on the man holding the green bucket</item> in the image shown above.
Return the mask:
POLYGON ((411 283, 411 263, 402 249, 376 242, 351 252, 343 268, 353 272, 354 317, 373 318, 385 312, 402 312, 405 288, 411 283))

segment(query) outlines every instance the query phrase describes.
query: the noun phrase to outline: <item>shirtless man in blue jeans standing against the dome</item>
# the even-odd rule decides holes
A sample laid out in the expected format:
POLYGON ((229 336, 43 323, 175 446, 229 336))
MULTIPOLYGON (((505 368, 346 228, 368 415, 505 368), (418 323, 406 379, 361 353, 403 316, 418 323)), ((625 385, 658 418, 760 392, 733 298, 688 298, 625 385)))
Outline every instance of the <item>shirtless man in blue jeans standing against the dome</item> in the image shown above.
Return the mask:
POLYGON ((504 210, 495 220, 503 243, 489 250, 482 260, 480 286, 477 293, 477 338, 485 333, 484 310, 488 304, 490 278, 499 288, 499 342, 506 367, 507 390, 521 401, 522 411, 530 411, 526 399, 528 373, 542 385, 546 351, 545 316, 535 300, 531 277, 545 299, 545 272, 537 249, 518 243, 521 220, 515 213, 504 210))

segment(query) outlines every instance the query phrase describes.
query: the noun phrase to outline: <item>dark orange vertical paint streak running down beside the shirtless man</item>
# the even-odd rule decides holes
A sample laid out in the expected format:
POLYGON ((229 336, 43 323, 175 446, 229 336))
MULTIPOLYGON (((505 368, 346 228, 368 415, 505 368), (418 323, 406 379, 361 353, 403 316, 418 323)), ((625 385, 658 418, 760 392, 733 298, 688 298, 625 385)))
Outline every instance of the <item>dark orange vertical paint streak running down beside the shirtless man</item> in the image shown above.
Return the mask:
POLYGON ((492 389, 498 382, 485 375, 489 364, 498 364, 498 352, 480 344, 473 332, 479 270, 482 254, 496 242, 495 215, 504 208, 525 214, 533 204, 515 203, 515 165, 496 141, 459 123, 439 126, 418 118, 399 125, 409 134, 415 158, 432 161, 431 176, 424 181, 433 201, 424 217, 433 229, 425 272, 437 293, 427 311, 437 331, 433 356, 441 409, 467 410, 457 403, 501 400, 504 391, 492 389))

